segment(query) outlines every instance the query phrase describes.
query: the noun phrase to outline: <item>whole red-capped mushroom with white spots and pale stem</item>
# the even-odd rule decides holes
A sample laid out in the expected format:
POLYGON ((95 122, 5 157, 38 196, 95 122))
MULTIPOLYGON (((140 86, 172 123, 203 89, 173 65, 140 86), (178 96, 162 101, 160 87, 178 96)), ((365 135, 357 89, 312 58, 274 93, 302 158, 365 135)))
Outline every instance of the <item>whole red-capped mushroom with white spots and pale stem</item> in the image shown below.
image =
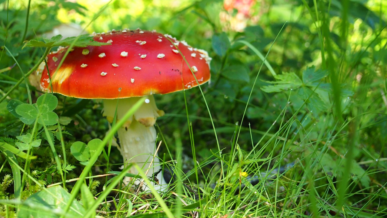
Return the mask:
MULTIPOLYGON (((164 115, 152 94, 190 89, 209 81, 211 58, 204 50, 156 31, 124 29, 94 34, 93 39, 111 45, 74 47, 59 69, 68 48, 51 52, 47 66, 39 70, 41 89, 75 98, 102 99, 103 115, 109 122, 116 110, 119 120, 141 96, 147 96, 146 103, 117 132, 124 162, 147 167, 156 144, 154 124, 164 115)), ((159 169, 156 158, 147 176, 159 169)), ((129 173, 138 174, 134 167, 129 173)), ((166 184, 161 173, 157 178, 159 184, 166 184)), ((126 178, 124 182, 131 180, 126 178)))

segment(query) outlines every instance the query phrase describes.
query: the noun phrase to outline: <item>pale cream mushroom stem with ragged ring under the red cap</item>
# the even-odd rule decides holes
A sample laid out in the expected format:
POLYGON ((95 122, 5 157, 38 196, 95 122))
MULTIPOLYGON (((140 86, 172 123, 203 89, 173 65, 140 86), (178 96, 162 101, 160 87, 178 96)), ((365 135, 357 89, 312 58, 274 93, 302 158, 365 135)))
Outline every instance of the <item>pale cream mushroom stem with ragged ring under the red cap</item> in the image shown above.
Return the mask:
MULTIPOLYGON (((117 108, 117 119, 121 119, 125 113, 139 100, 140 97, 123 98, 118 100, 104 99, 104 116, 109 122, 113 121, 113 117, 117 108), (117 106, 117 107, 116 107, 117 106)), ((151 177, 154 172, 157 172, 161 165, 157 156, 154 158, 152 164, 149 163, 153 159, 156 145, 156 129, 154 124, 157 117, 164 115, 162 110, 159 110, 156 106, 153 96, 148 96, 146 103, 134 113, 133 117, 129 118, 127 122, 117 131, 118 139, 120 141, 119 150, 123 156, 124 163, 137 163, 144 172, 149 171, 146 174, 151 177)), ((130 168, 128 173, 139 174, 135 167, 130 168)), ((129 183, 133 178, 125 177, 123 182, 129 183)), ((160 187, 156 187, 157 190, 163 190, 163 185, 166 182, 163 179, 163 173, 157 175, 160 187)), ((135 185, 139 182, 135 181, 135 185)))

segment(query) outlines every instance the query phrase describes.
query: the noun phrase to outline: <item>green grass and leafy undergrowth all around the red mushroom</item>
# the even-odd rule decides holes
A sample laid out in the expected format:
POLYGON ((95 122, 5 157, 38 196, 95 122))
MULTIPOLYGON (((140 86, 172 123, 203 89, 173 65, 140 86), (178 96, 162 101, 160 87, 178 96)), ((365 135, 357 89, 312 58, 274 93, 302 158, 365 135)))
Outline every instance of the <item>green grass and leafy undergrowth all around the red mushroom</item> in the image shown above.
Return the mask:
POLYGON ((260 1, 241 32, 221 1, 23 3, 0 2, 0 217, 387 215, 384 0, 260 1), (88 42, 39 42, 60 21, 156 29, 209 51, 210 84, 155 96, 168 192, 123 186, 120 123, 106 134, 100 103, 55 94, 34 112, 28 75, 51 46, 88 42), (91 140, 82 165, 70 147, 91 140))

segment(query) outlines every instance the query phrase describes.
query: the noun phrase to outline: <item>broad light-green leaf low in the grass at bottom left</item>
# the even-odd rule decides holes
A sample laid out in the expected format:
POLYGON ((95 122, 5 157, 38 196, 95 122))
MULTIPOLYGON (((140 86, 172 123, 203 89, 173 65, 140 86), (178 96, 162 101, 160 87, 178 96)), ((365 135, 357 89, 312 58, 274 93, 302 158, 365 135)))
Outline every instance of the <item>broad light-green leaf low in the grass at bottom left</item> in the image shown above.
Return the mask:
POLYGON ((79 218, 83 217, 85 209, 74 200, 68 211, 64 211, 71 198, 62 186, 56 185, 29 196, 21 205, 18 218, 79 218))

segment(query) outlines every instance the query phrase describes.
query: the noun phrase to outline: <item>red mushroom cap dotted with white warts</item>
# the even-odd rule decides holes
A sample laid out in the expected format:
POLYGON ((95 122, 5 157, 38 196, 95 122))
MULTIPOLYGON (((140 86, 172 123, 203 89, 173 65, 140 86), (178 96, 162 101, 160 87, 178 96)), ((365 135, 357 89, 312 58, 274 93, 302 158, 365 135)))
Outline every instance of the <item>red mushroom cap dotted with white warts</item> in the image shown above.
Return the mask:
POLYGON ((41 89, 50 92, 51 81, 54 93, 114 99, 172 93, 197 86, 195 77, 199 84, 210 79, 207 52, 170 35, 137 29, 95 34, 93 39, 111 45, 74 47, 59 69, 67 47, 50 53, 41 89))

